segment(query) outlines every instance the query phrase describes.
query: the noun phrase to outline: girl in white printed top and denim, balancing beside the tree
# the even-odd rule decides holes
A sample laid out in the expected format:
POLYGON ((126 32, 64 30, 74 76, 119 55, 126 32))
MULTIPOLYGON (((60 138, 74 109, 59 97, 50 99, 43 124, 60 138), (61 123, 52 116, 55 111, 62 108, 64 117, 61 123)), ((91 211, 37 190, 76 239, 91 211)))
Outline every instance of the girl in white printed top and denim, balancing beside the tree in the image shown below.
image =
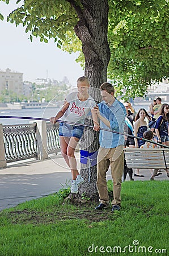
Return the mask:
MULTIPOLYGON (((62 109, 56 114, 56 117, 50 117, 50 122, 56 123, 57 119, 62 117, 62 121, 80 123, 82 125, 69 125, 66 122, 60 123, 60 147, 61 154, 71 170, 71 193, 78 193, 78 185, 84 182, 77 170, 77 161, 75 159, 74 151, 82 137, 84 129, 84 118, 88 115, 90 110, 96 106, 96 102, 88 94, 90 85, 85 76, 79 77, 77 80, 78 93, 70 93, 65 100, 62 109)), ((99 130, 98 115, 92 113, 94 121, 94 130, 99 130)))

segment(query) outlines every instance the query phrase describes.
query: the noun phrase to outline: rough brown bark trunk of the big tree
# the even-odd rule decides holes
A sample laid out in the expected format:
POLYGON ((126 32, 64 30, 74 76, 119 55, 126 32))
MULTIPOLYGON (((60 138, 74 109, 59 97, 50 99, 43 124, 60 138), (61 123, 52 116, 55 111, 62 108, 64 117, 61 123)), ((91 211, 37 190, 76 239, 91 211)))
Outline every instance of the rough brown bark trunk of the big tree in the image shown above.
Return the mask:
MULTIPOLYGON (((107 41, 108 31, 108 1, 81 1, 83 10, 77 10, 79 22, 74 31, 82 42, 85 57, 85 72, 90 81, 90 95, 96 102, 100 102, 100 85, 107 81, 107 66, 110 50, 107 41)), ((86 119, 88 125, 93 125, 91 119, 86 119)), ((99 148, 99 133, 85 127, 81 139, 81 150, 95 152, 99 148)), ((91 167, 91 161, 81 164, 81 175, 85 183, 79 187, 78 197, 98 198, 96 189, 96 165, 91 167)))

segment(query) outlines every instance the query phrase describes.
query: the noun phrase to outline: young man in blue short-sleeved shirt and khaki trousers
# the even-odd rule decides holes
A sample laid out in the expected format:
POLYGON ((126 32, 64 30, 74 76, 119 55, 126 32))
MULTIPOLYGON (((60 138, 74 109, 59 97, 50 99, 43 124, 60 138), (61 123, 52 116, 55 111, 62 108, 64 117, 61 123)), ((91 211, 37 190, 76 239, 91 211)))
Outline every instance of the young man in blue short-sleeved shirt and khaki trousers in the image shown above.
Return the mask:
POLYGON ((100 119, 100 127, 111 131, 100 130, 100 148, 97 159, 97 188, 100 204, 95 209, 102 210, 108 207, 109 196, 107 189, 106 172, 111 166, 113 179, 112 211, 121 207, 121 179, 124 168, 124 136, 119 133, 124 131, 126 110, 124 105, 114 97, 115 89, 109 82, 100 86, 103 101, 98 104, 93 113, 97 113, 100 119))

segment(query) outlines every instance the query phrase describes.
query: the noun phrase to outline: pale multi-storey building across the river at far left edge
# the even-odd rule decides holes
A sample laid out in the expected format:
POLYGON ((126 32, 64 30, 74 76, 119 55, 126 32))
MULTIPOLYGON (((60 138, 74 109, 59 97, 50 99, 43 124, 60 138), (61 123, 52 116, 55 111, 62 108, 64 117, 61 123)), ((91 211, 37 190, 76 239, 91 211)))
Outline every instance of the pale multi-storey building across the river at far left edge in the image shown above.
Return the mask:
POLYGON ((0 69, 0 92, 4 89, 23 94, 23 73, 11 71, 9 68, 6 71, 0 69))

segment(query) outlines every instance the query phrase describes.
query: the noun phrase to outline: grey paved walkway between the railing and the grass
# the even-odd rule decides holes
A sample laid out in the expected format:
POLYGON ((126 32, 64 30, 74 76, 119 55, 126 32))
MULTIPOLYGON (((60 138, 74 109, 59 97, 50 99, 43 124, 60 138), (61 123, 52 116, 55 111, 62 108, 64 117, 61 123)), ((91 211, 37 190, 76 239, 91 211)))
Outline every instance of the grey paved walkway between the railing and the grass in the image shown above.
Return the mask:
MULTIPOLYGON (((79 153, 76 157, 79 168, 79 153)), ((140 174, 145 177, 134 177, 134 180, 149 180, 148 170, 140 170, 140 174)), ((48 160, 24 160, 7 164, 7 168, 0 169, 0 210, 56 192, 63 185, 66 187, 70 179, 69 168, 61 155, 51 156, 48 160)), ((111 179, 110 170, 107 179, 111 179)), ((162 175, 155 179, 168 178, 162 170, 162 175)))

